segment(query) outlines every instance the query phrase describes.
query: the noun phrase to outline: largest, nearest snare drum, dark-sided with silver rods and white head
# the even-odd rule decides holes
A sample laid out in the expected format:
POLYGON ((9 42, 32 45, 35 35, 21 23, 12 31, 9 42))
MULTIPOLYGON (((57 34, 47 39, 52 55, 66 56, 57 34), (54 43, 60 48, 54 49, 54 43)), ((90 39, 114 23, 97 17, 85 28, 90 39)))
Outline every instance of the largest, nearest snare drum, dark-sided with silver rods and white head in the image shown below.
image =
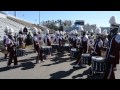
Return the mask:
POLYGON ((97 73, 105 71, 105 58, 101 56, 92 57, 92 70, 97 73))

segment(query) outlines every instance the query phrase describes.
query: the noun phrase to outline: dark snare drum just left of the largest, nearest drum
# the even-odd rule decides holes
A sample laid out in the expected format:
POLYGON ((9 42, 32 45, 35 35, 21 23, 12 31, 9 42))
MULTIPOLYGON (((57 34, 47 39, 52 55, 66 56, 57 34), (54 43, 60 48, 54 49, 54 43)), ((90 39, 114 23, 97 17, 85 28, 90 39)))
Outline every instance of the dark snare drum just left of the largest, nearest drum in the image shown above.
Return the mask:
POLYGON ((92 59, 91 59, 91 55, 90 54, 82 54, 81 55, 81 63, 82 64, 87 64, 87 65, 91 65, 92 59))

